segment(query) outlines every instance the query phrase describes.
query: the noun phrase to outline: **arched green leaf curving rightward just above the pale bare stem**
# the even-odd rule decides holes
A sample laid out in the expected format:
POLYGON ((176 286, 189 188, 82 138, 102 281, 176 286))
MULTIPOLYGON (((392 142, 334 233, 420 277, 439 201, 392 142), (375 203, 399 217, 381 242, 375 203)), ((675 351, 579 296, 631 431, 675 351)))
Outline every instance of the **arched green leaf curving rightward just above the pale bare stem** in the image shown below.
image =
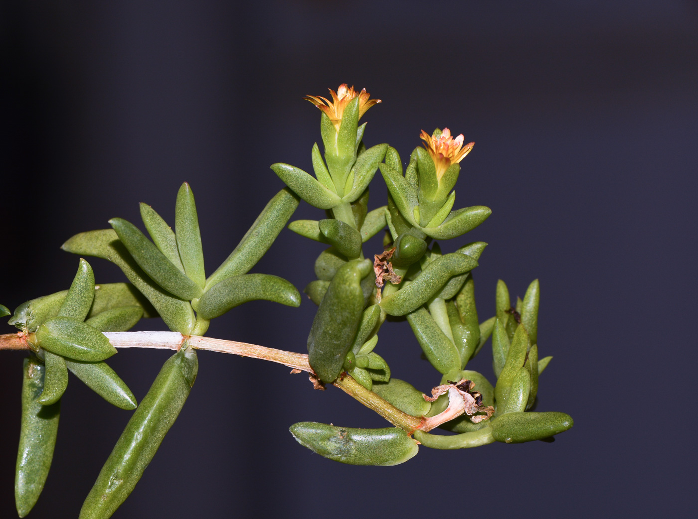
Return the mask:
POLYGON ((242 274, 216 283, 199 300, 198 315, 213 319, 247 301, 266 299, 286 306, 299 306, 301 294, 290 282, 269 274, 242 274))

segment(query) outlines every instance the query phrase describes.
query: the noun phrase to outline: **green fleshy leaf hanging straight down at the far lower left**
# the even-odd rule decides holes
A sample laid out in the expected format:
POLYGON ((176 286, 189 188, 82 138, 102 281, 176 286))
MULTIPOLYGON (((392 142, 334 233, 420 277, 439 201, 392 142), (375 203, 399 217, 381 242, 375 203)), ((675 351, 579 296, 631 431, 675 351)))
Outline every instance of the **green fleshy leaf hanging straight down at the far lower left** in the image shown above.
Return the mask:
POLYGON ((20 517, 36 504, 56 445, 61 403, 41 405, 36 401, 43 391, 44 375, 45 367, 38 361, 24 359, 22 426, 15 472, 15 503, 20 517))

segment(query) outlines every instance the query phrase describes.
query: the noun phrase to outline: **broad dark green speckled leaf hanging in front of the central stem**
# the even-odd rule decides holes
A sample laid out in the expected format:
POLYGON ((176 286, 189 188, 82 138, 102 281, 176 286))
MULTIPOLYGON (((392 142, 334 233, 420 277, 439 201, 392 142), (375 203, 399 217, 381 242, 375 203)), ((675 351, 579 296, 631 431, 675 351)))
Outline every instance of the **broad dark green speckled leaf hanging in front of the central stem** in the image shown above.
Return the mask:
POLYGON ((320 302, 308 336, 308 360, 323 382, 339 375, 364 310, 362 278, 371 272, 370 260, 352 260, 337 271, 320 302))

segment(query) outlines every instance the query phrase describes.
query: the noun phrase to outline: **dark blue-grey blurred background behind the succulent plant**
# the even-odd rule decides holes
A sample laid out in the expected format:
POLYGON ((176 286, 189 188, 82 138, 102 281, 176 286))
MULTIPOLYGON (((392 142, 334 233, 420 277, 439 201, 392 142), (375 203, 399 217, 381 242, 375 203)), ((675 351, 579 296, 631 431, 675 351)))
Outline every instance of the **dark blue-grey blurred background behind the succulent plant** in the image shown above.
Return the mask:
MULTIPOLYGON (((77 232, 138 202, 173 220, 193 186, 207 269, 283 184, 311 170, 320 113, 302 97, 341 82, 383 100, 367 145, 403 159, 419 130, 475 141, 456 207, 493 214, 475 272, 481 320, 496 280, 542 289, 539 347, 554 355, 540 411, 564 411, 554 444, 422 448, 392 468, 299 446, 296 421, 381 427, 338 389, 288 368, 200 353, 196 385, 118 518, 373 515, 682 516, 695 494, 695 195, 698 5, 689 1, 242 3, 6 1, 1 13, 0 302, 65 289, 77 232)), ((385 203, 380 174, 369 209, 385 203)), ((322 218, 302 204, 295 218, 322 218)), ((299 289, 322 250, 285 230, 254 271, 299 289)), ((371 241, 367 254, 380 251, 371 241)), ((91 260, 98 282, 123 280, 91 260)), ((209 335, 305 351, 315 306, 253 302, 209 335)), ((159 321, 138 329, 163 329, 159 321)), ((3 324, 1 333, 12 331, 3 324)), ((376 351, 422 391, 438 374, 406 323, 376 351)), ((0 517, 15 514, 22 356, 0 362, 0 517)), ((165 351, 110 360, 140 400, 165 351)), ((469 364, 493 380, 488 348, 469 364)), ((124 412, 71 377, 57 451, 31 517, 76 517, 124 412)), ((692 510, 692 509, 691 509, 692 510)))

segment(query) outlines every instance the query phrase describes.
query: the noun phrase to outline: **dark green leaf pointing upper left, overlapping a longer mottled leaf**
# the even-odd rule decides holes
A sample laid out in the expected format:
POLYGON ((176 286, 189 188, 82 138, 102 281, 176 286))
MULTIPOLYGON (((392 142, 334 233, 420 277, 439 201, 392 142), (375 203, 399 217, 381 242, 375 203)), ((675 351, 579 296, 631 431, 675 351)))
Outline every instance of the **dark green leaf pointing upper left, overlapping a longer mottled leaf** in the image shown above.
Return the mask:
POLYGON ((201 287, 177 269, 133 223, 123 218, 112 218, 109 223, 138 266, 158 285, 181 299, 201 296, 201 287))

